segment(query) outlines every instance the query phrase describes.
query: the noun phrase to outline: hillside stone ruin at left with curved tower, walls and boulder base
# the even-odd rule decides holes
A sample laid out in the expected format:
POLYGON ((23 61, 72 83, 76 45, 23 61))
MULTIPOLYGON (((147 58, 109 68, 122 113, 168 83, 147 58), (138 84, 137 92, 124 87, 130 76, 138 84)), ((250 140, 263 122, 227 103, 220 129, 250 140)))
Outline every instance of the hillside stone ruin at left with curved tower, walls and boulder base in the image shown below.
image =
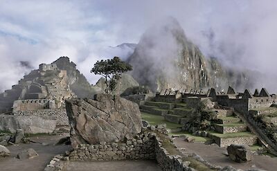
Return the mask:
POLYGON ((56 64, 40 64, 12 89, 0 93, 0 130, 51 133, 68 125, 65 100, 74 98, 66 71, 56 64))

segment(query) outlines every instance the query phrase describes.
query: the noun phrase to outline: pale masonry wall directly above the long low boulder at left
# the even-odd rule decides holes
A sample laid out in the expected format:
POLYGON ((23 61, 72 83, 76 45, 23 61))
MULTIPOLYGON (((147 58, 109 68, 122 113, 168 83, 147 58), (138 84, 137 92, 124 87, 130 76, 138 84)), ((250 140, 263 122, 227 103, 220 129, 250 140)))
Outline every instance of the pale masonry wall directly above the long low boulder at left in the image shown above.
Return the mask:
POLYGON ((37 111, 15 111, 15 116, 39 116, 47 120, 56 120, 57 126, 69 125, 66 109, 42 109, 37 111))

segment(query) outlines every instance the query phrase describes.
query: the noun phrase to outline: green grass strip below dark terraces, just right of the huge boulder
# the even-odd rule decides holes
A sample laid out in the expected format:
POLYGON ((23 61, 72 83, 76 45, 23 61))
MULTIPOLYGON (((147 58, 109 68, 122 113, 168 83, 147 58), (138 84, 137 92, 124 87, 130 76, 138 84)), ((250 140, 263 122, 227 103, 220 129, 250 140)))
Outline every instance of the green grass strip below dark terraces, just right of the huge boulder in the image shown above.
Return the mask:
POLYGON ((153 115, 153 114, 147 114, 147 113, 141 112, 141 118, 143 120, 148 121, 150 125, 159 125, 162 123, 166 123, 166 127, 169 129, 177 129, 179 127, 182 127, 182 125, 180 124, 170 123, 166 121, 163 116, 159 116, 159 115, 153 115))

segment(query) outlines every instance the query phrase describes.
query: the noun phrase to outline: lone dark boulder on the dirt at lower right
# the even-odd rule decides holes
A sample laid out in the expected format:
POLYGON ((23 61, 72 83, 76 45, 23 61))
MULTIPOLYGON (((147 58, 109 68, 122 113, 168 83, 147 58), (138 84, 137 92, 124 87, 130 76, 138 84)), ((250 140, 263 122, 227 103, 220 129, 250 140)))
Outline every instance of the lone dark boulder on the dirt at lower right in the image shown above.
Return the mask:
POLYGON ((229 158, 239 163, 251 161, 253 153, 248 145, 229 145, 227 147, 229 158))

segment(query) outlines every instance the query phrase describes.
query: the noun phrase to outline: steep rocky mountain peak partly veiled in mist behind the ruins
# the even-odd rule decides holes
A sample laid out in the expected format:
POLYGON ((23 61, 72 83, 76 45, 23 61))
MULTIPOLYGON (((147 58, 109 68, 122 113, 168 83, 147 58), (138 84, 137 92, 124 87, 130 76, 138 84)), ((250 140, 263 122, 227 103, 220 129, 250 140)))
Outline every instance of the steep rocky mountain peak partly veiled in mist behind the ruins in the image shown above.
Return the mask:
POLYGON ((174 18, 148 29, 127 62, 133 66, 134 79, 153 91, 249 84, 247 74, 226 69, 215 58, 205 58, 174 18))

